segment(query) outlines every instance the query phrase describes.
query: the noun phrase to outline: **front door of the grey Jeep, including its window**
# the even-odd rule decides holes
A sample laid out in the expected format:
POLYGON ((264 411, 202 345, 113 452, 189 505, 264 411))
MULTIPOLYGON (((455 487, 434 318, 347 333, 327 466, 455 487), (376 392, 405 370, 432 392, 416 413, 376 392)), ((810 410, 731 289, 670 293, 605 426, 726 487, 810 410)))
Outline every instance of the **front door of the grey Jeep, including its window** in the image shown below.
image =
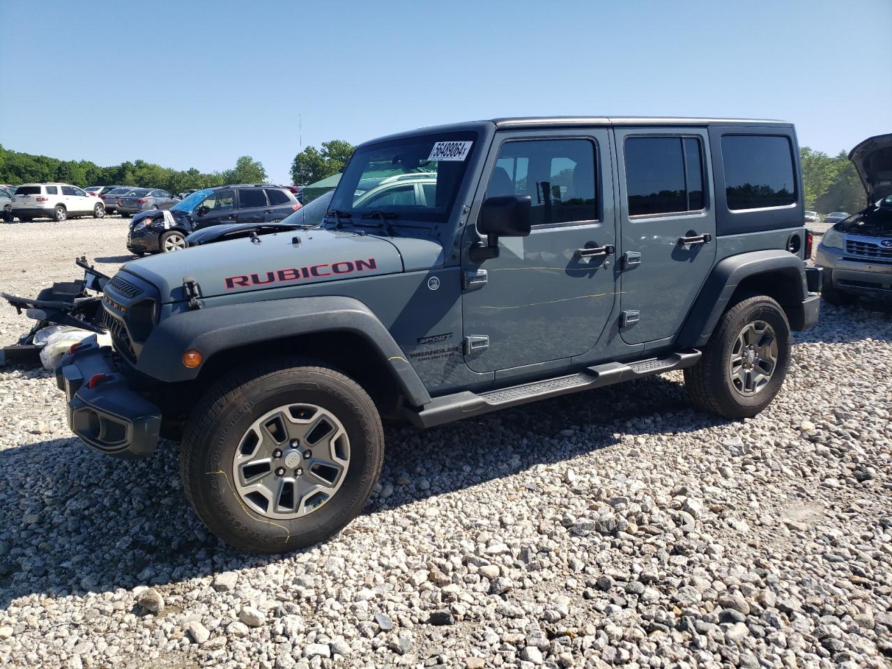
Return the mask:
MULTIPOLYGON (((559 361, 598 342, 615 299, 611 165, 607 128, 496 135, 471 220, 481 191, 528 195, 533 230, 501 238, 498 258, 476 264, 465 254, 469 368, 559 361)), ((475 237, 465 236, 466 244, 475 237)))

